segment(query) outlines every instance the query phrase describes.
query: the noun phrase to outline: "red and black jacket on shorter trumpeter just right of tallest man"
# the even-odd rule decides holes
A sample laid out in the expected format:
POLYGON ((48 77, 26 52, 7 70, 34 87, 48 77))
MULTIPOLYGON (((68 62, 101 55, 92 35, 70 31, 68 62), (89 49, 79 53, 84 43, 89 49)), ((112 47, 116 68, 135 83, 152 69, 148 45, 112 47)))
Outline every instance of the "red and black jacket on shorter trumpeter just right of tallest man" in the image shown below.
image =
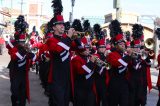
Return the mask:
POLYGON ((85 56, 76 55, 71 60, 72 71, 73 71, 72 73, 74 74, 73 86, 74 86, 74 81, 77 80, 77 78, 81 77, 83 78, 84 84, 87 83, 88 81, 92 81, 91 82, 92 85, 88 86, 90 86, 93 89, 93 92, 96 93, 94 80, 88 80, 91 77, 93 78, 95 65, 94 63, 85 59, 84 57, 85 56))

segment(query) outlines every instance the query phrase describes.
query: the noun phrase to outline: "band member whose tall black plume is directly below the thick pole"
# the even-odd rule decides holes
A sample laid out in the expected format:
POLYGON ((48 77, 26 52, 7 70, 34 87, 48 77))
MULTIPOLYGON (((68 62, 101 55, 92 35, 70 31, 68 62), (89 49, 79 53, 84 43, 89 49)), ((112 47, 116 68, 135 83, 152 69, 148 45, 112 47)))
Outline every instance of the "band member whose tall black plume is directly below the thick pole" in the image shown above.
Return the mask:
MULTIPOLYGON (((115 49, 107 56, 107 62, 111 65, 109 70, 109 106, 128 106, 129 104, 129 85, 127 79, 128 65, 131 61, 131 53, 125 53, 126 45, 123 39, 120 23, 117 20, 111 22, 114 32, 115 49), (114 24, 113 24, 114 23, 114 24)), ((111 26, 110 26, 111 27, 111 26)))

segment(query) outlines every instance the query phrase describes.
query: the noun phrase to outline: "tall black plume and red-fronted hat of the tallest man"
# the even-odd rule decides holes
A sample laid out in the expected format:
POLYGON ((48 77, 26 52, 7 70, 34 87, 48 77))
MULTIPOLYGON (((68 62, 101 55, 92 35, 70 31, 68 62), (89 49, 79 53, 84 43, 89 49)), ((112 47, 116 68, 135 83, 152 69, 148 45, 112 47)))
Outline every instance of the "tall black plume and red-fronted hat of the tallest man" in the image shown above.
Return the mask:
POLYGON ((61 0, 53 0, 52 7, 54 12, 54 17, 51 19, 51 25, 64 23, 63 16, 61 15, 63 11, 62 1, 61 0))

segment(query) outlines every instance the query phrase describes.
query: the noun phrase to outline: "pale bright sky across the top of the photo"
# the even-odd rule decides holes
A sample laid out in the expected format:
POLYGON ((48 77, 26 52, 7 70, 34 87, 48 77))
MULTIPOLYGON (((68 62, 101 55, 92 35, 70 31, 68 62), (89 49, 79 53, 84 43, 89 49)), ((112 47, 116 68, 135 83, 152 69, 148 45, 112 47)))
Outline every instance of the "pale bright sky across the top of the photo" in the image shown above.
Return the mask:
MULTIPOLYGON (((20 9, 20 2, 22 0, 0 0, 1 6, 12 7, 20 9)), ((28 0, 23 0, 25 3, 28 0)), ((34 0, 36 1, 36 0, 34 0)), ((44 15, 53 16, 51 1, 52 0, 37 0, 42 1, 44 15)), ((71 0, 62 0, 63 16, 65 21, 69 20, 69 12, 71 12, 71 0)), ((25 9, 24 4, 24 9, 25 9)), ((160 0, 121 0, 122 11, 133 12, 140 15, 155 15, 160 16, 160 0)), ((113 0, 75 0, 73 17, 81 19, 82 16, 101 16, 115 12, 113 9, 113 0)))

